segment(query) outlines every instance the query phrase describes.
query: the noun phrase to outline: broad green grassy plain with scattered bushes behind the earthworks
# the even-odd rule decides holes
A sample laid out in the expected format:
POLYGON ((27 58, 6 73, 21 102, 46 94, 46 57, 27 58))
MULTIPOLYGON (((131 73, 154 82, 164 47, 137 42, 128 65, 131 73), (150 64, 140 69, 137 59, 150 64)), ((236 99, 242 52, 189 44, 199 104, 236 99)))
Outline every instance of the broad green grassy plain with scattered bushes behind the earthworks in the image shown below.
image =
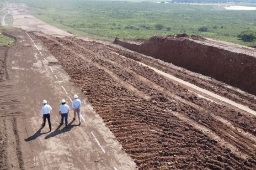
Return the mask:
MULTIPOLYGON (((33 15, 50 25, 98 39, 149 38, 187 33, 242 45, 241 31, 256 31, 256 10, 225 10, 220 5, 158 4, 135 1, 10 0, 30 5, 33 15), (161 26, 158 29, 157 24, 161 26), (200 32, 198 28, 207 27, 200 32)), ((239 4, 238 4, 239 5, 239 4)), ((241 4, 248 5, 248 4, 241 4)), ((256 6, 256 4, 250 4, 256 6)))

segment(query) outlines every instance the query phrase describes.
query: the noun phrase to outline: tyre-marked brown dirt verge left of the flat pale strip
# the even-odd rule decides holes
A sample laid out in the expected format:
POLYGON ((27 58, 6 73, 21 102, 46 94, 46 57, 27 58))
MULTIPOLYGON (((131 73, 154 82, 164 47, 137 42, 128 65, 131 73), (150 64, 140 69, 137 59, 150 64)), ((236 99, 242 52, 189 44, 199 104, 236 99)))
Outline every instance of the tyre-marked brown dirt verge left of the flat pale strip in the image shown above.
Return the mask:
POLYGON ((0 54, 3 54, 0 55, 0 118, 3 128, 0 129, 5 134, 5 137, 0 134, 0 169, 7 170, 16 167, 24 170, 16 117, 25 117, 26 114, 20 112, 23 106, 17 100, 17 93, 14 90, 15 82, 11 80, 8 73, 10 48, 0 47, 0 54))

